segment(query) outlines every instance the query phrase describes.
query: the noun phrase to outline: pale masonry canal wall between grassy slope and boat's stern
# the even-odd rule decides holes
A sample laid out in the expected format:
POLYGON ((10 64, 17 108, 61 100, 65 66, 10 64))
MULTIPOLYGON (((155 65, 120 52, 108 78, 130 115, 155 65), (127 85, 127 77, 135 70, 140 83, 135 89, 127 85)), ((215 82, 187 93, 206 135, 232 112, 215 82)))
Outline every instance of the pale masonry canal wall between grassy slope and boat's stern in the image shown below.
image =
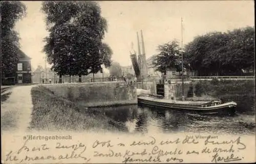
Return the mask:
POLYGON ((123 82, 46 86, 55 95, 87 107, 136 104, 136 88, 123 82))

